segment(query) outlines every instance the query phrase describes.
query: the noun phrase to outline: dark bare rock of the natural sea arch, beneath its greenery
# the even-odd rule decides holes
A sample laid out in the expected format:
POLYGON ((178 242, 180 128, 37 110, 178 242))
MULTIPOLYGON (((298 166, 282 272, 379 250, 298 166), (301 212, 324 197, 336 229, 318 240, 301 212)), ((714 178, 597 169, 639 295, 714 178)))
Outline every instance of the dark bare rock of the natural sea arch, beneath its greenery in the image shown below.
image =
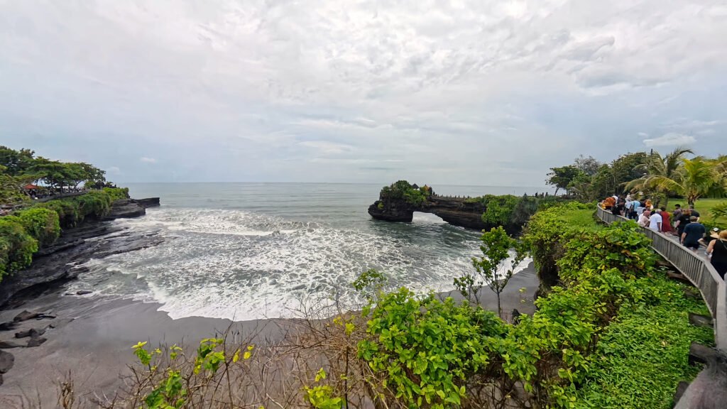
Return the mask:
MULTIPOLYGON (((433 213, 443 221, 467 229, 491 229, 495 227, 482 221, 482 213, 486 208, 478 202, 467 202, 464 198, 429 196, 419 205, 409 204, 403 200, 379 199, 369 206, 369 215, 383 221, 410 222, 414 212, 433 213)), ((505 226, 510 232, 519 230, 519 226, 505 226)))

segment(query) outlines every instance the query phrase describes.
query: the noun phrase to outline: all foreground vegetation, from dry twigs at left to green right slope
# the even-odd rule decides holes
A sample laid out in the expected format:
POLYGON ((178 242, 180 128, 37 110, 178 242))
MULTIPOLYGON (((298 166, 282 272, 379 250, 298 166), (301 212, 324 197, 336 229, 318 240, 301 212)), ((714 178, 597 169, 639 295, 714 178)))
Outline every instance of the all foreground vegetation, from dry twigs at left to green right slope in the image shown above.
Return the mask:
MULTIPOLYGON (((292 359, 305 367, 292 388, 297 397, 260 394, 268 397, 266 407, 303 400, 319 409, 348 402, 380 408, 670 408, 678 381, 699 370, 688 365, 689 345, 713 341, 710 329, 688 322, 689 311, 704 314, 706 307, 656 269, 649 239, 633 222, 598 226, 593 204, 577 203, 541 210, 525 239, 534 253, 545 254, 541 246, 558 248, 553 263, 559 278, 537 299, 537 311, 519 322, 433 293, 386 292, 385 275, 369 270, 353 283, 368 300, 361 313, 302 320, 309 326, 294 335, 294 344, 281 347, 280 361, 270 349, 258 364, 260 355, 240 366, 244 346, 225 352, 222 340, 209 348, 203 342, 188 364, 175 363, 171 354, 172 364, 166 364, 167 354, 136 346, 143 368, 135 371, 140 381, 129 399, 145 408, 212 397, 243 405, 243 398, 225 391, 253 384, 225 387, 225 376, 217 374, 273 362, 289 368, 292 359), (200 396, 205 388, 212 396, 200 396)), ((483 255, 492 258, 473 261, 479 274, 502 262, 511 240, 502 229, 483 235, 483 255)))

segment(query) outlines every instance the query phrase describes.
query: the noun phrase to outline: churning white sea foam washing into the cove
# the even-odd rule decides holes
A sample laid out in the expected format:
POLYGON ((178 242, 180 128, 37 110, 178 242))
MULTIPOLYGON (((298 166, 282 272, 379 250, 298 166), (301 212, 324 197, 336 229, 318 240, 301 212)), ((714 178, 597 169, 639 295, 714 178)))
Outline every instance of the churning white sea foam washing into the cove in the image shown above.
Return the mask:
POLYGON ((350 282, 369 268, 385 271, 393 286, 451 290, 454 277, 472 271, 470 257, 478 253, 476 234, 442 234, 439 229, 451 226, 429 215, 415 216, 398 234, 242 210, 162 208, 116 223, 158 231, 166 240, 92 260, 74 286, 156 301, 175 319, 291 317, 301 298, 352 298, 350 282))

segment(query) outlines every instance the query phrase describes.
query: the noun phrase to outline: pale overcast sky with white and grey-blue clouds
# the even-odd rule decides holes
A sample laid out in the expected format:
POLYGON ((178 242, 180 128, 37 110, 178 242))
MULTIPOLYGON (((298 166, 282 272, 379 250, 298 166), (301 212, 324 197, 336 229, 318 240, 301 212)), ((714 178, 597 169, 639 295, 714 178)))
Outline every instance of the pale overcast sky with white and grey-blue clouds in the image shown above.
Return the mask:
POLYGON ((727 1, 0 0, 0 144, 111 180, 542 186, 726 131, 727 1))

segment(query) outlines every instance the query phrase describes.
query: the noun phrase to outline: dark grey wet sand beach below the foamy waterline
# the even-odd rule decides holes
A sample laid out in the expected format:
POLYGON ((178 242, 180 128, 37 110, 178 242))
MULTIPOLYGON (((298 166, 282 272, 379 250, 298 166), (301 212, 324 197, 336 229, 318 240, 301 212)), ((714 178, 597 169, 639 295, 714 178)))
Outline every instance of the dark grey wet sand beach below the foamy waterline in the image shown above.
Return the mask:
MULTIPOLYGON (((531 314, 532 297, 538 279, 533 266, 515 274, 502 293, 504 316, 513 309, 531 314)), ((451 293, 461 299, 459 293, 451 293)), ((489 288, 481 290, 483 305, 497 310, 497 299, 489 288)), ((77 392, 89 396, 113 395, 122 385, 120 376, 129 373, 134 363, 131 346, 139 341, 150 345, 179 344, 196 346, 202 338, 222 333, 230 327, 238 341, 253 338, 256 344, 278 341, 292 321, 259 319, 231 322, 228 319, 187 317, 171 319, 158 311, 158 303, 142 303, 95 295, 50 293, 27 301, 17 309, 0 311, 0 322, 12 321, 20 311, 44 311, 55 319, 31 319, 15 330, 0 331, 0 341, 15 339, 17 330, 47 325, 47 341, 32 348, 4 349, 15 355, 15 366, 3 375, 0 408, 43 408, 57 405, 58 385, 71 373, 77 392)))

